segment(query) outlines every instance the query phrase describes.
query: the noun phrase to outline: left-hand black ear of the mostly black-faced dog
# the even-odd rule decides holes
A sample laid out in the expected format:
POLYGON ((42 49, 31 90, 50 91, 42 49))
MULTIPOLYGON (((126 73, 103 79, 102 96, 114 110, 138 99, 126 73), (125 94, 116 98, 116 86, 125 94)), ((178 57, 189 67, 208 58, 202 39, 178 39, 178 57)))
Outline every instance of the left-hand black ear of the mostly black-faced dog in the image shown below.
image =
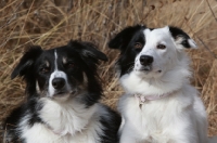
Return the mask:
POLYGON ((11 74, 11 79, 16 76, 25 76, 28 73, 29 67, 34 64, 36 57, 42 52, 42 49, 38 46, 30 47, 29 50, 23 55, 18 65, 11 74))

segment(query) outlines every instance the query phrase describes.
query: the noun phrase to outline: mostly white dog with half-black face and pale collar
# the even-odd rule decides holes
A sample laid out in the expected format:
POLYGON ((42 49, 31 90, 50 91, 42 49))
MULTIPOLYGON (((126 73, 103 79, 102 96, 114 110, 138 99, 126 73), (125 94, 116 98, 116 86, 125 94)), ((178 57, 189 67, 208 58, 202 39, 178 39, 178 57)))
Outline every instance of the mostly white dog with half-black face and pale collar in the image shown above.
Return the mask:
POLYGON ((108 43, 125 94, 118 110, 120 143, 208 143, 207 118, 199 92, 190 84, 184 49, 195 42, 177 27, 127 27, 108 43))

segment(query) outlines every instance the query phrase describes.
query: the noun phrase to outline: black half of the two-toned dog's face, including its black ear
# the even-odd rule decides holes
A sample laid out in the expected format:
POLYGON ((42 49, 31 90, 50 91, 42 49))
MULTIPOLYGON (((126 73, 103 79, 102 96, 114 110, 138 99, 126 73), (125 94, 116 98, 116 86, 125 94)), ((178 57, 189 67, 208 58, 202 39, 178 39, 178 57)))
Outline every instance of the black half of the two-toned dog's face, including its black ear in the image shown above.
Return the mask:
POLYGON ((135 66, 135 58, 145 44, 143 30, 145 26, 127 27, 117 34, 110 42, 111 49, 120 50, 118 66, 120 76, 130 73, 135 66))

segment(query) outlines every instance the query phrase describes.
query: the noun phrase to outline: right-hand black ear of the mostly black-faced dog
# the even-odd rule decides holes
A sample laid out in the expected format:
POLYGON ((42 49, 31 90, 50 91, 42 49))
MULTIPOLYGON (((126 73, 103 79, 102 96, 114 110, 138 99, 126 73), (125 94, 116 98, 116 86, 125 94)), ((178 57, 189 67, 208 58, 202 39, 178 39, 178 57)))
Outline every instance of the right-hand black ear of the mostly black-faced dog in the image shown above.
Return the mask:
POLYGON ((69 41, 68 47, 74 48, 82 56, 93 57, 95 60, 107 61, 107 56, 101 51, 97 50, 95 46, 91 42, 69 41))

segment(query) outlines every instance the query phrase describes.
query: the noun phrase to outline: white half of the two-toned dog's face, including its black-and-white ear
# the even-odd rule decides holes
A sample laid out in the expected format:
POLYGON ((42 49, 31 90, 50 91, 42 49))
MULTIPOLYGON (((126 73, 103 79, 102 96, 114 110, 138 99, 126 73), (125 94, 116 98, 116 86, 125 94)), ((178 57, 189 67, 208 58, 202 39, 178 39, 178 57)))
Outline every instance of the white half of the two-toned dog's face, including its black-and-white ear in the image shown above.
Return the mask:
POLYGON ((195 42, 177 27, 145 29, 145 46, 137 55, 135 70, 145 78, 157 78, 179 65, 188 64, 183 49, 196 48, 195 42))

